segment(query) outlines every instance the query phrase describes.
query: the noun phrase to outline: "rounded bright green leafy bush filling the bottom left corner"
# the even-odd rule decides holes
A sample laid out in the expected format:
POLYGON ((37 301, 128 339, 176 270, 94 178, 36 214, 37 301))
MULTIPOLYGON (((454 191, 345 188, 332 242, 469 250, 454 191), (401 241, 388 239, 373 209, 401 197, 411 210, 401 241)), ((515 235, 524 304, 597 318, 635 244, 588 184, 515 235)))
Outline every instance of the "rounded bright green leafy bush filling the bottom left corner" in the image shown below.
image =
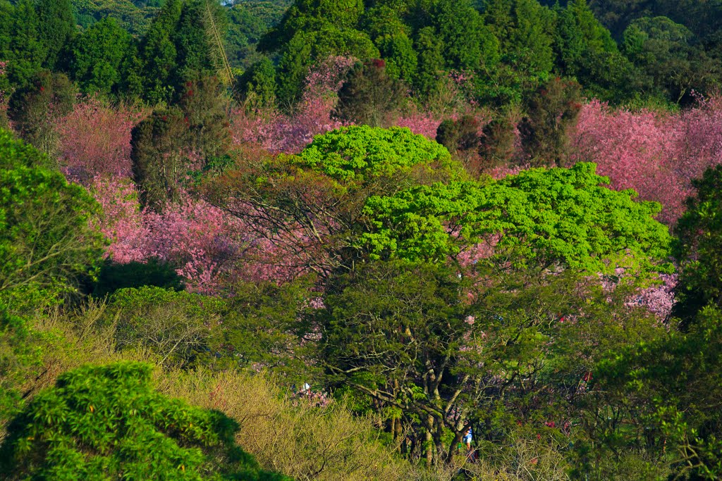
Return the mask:
POLYGON ((0 472, 8 479, 267 480, 235 446, 235 421, 152 389, 141 363, 62 374, 9 426, 0 472))

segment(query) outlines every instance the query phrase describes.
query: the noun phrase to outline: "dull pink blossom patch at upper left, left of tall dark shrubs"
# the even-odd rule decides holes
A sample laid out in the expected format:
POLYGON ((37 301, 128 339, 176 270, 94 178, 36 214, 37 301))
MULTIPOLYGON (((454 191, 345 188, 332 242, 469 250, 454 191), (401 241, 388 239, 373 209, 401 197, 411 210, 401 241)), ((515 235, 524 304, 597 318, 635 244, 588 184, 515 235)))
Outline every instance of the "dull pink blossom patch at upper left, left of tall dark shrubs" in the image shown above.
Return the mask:
POLYGON ((122 105, 110 107, 97 97, 76 104, 55 126, 66 176, 81 183, 99 175, 130 177, 131 131, 146 114, 122 105))

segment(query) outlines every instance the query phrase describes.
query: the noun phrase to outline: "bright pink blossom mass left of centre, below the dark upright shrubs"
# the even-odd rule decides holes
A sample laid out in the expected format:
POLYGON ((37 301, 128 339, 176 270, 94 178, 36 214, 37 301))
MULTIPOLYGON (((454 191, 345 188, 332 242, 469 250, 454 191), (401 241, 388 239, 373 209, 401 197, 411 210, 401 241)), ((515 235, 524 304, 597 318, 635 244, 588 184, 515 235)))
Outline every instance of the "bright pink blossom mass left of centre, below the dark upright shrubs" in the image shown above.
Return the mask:
POLYGON ((110 241, 108 257, 121 264, 154 257, 172 262, 191 291, 217 294, 235 281, 281 283, 307 271, 292 244, 271 242, 272 236, 187 193, 161 213, 141 208, 129 179, 95 177, 92 193, 103 208, 99 228, 110 241))

